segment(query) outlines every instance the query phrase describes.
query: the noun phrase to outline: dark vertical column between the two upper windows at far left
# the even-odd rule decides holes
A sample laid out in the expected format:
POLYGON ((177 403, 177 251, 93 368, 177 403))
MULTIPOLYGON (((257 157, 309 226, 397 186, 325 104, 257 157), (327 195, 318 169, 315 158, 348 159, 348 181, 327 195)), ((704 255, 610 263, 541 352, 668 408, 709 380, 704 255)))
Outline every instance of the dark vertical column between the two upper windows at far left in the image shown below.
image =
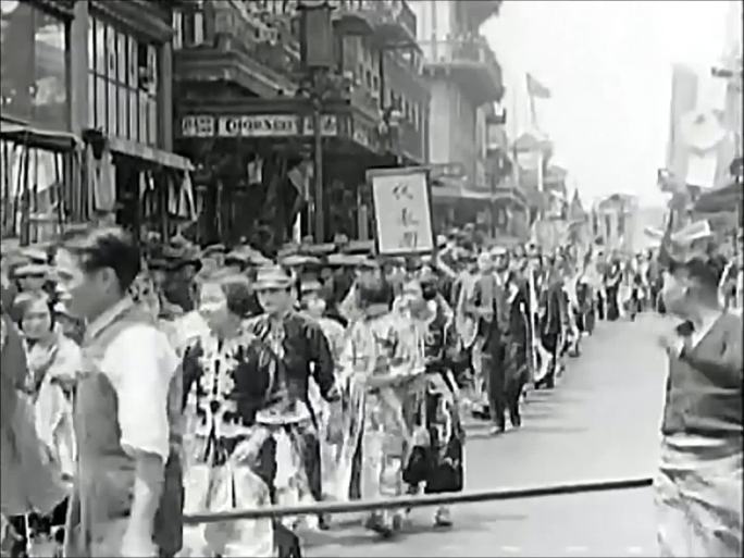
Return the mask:
POLYGON ((88 122, 88 0, 75 2, 70 24, 70 125, 80 136, 88 122))

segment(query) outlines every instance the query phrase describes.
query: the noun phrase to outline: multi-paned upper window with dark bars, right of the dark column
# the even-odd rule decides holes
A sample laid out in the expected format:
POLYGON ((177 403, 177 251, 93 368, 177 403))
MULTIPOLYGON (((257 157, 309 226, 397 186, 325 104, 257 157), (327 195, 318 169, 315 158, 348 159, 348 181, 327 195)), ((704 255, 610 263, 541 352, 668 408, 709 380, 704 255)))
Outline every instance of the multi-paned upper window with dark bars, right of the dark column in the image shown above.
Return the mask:
POLYGON ((89 125, 111 136, 158 142, 158 49, 101 20, 88 28, 89 125))

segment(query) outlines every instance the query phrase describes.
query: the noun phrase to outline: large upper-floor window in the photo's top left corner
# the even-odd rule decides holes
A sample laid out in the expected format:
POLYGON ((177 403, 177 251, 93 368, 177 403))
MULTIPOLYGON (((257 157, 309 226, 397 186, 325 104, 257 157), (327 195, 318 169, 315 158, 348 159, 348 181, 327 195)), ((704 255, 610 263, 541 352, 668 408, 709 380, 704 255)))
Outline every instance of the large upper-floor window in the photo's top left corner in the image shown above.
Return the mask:
POLYGON ((0 8, 2 113, 42 128, 69 128, 66 23, 27 2, 0 8))

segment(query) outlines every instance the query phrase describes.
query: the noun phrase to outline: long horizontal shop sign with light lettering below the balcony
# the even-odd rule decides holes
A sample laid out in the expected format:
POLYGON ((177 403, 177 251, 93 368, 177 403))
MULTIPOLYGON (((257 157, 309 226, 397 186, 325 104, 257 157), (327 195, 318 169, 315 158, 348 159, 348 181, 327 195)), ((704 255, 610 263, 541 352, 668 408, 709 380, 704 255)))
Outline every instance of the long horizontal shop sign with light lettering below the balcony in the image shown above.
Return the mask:
MULTIPOLYGON (((246 114, 241 116, 188 115, 181 121, 183 137, 292 137, 313 134, 312 116, 297 114, 246 114)), ((321 117, 321 134, 338 135, 335 114, 321 117)))

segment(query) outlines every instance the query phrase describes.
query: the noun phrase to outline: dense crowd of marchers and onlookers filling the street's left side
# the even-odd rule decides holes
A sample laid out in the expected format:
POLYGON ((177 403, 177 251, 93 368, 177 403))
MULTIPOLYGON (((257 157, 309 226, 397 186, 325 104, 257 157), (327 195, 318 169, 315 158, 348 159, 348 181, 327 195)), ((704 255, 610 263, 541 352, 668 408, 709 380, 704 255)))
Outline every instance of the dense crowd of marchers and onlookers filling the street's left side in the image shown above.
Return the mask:
POLYGON ((519 429, 596 320, 665 311, 653 252, 437 245, 269 259, 98 228, 3 253, 3 556, 300 556, 333 518, 183 517, 462 491, 464 421, 519 429))

